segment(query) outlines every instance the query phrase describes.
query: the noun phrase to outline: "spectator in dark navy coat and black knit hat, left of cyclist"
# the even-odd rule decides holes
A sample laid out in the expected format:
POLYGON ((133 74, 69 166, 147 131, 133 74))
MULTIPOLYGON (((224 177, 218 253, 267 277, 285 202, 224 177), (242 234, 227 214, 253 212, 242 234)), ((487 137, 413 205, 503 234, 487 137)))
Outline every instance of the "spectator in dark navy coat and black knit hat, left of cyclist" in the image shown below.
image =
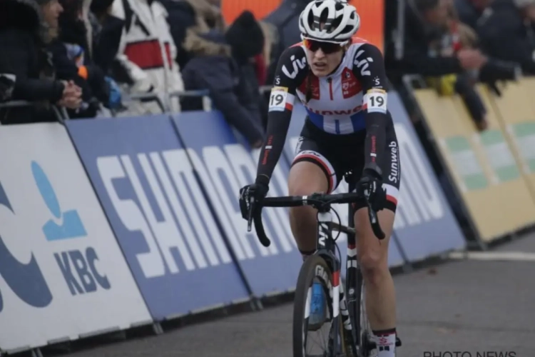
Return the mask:
POLYGON ((208 89, 215 109, 223 113, 253 148, 260 148, 263 129, 258 105, 259 88, 251 66, 254 57, 264 49, 260 24, 250 11, 244 11, 225 34, 210 31, 202 36, 209 41, 228 44, 232 56, 195 56, 190 59, 183 69, 185 89, 208 89))

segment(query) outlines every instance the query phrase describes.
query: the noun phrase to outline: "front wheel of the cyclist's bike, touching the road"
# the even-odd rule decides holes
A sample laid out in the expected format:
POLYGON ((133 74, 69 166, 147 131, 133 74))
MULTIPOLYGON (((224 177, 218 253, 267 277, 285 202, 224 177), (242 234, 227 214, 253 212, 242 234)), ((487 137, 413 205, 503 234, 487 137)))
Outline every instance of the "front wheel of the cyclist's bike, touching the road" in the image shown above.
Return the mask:
POLYGON ((293 357, 345 356, 340 314, 332 318, 332 295, 329 266, 320 256, 308 257, 301 266, 295 288, 293 357), (318 306, 322 306, 321 313, 317 312, 318 306))

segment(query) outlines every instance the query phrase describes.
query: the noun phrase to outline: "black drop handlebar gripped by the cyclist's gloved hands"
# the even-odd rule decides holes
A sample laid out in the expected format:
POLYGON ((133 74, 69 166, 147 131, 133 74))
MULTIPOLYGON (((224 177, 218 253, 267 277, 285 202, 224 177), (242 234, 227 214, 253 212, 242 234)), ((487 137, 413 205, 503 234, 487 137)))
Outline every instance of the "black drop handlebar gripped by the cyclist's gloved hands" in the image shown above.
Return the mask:
MULTIPOLYGON (((335 204, 335 203, 354 203, 355 201, 365 198, 360 193, 335 193, 335 194, 323 194, 314 193, 310 196, 280 196, 280 197, 266 197, 260 202, 255 202, 253 197, 250 198, 250 209, 248 216, 247 230, 251 231, 251 223, 255 223, 255 231, 263 246, 268 247, 271 244, 270 238, 267 238, 262 223, 262 208, 263 207, 297 207, 297 206, 321 206, 322 204, 335 204), (255 207, 258 206, 258 207, 255 207)), ((379 239, 384 239, 384 232, 379 225, 379 219, 377 219, 377 212, 372 209, 370 202, 366 199, 368 206, 368 216, 370 217, 370 223, 372 224, 372 230, 375 236, 379 239)), ((336 225, 340 231, 346 233, 353 233, 348 229, 343 229, 343 226, 336 225)))

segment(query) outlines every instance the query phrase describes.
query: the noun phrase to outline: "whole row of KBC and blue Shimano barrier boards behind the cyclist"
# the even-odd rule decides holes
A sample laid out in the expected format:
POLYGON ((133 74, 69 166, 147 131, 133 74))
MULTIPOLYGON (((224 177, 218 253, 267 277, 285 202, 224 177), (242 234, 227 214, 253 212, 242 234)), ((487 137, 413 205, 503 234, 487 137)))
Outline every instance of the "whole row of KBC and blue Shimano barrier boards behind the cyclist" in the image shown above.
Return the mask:
MULTIPOLYGON (((393 267, 464 239, 395 92, 388 105, 404 178, 393 267)), ((287 195, 304 117, 297 108, 269 196, 287 195)), ((269 248, 240 217, 259 156, 242 143, 206 111, 0 127, 0 351, 292 291, 302 260, 287 209, 263 212, 269 248)))

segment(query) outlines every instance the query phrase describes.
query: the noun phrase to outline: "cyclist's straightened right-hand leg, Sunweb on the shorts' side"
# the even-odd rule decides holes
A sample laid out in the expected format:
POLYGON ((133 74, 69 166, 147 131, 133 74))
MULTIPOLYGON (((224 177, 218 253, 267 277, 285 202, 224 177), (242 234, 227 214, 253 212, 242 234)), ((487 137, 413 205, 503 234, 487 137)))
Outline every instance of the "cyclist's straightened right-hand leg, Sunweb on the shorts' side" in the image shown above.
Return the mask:
POLYGON ((379 350, 378 357, 392 357, 396 343, 396 298, 394 281, 388 268, 388 246, 394 226, 401 167, 395 134, 387 136, 387 156, 382 167, 387 206, 377 212, 384 231, 382 241, 374 235, 365 203, 355 204, 357 256, 365 281, 367 316, 379 350))

